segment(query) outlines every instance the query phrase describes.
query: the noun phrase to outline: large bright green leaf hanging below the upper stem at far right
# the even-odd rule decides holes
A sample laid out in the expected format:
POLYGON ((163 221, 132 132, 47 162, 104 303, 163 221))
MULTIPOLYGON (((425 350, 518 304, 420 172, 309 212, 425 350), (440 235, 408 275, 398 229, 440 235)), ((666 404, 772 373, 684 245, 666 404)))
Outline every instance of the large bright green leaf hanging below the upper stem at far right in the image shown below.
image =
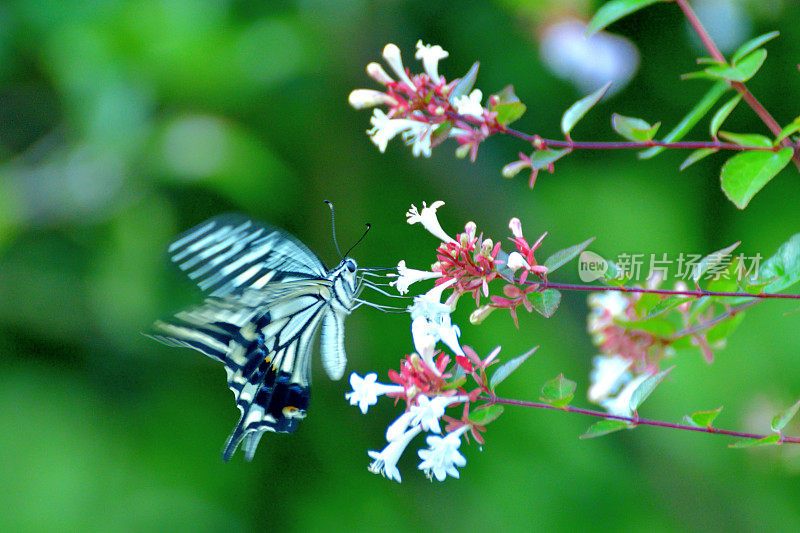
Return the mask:
POLYGON ((780 152, 745 152, 728 159, 722 166, 722 190, 739 209, 744 209, 755 194, 783 170, 792 159, 792 149, 780 152))

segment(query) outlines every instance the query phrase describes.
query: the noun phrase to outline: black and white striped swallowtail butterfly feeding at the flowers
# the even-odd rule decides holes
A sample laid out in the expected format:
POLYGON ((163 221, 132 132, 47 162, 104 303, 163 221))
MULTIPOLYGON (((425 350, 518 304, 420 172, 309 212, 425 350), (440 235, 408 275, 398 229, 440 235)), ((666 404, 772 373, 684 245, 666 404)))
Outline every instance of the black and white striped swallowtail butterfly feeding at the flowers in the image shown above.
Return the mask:
POLYGON ((265 432, 292 433, 306 416, 318 332, 326 374, 333 380, 344 374, 344 319, 364 303, 358 300, 364 278, 353 259, 328 270, 294 236, 241 215, 199 224, 168 253, 208 297, 156 322, 150 336, 225 366, 241 416, 222 458, 228 461, 243 443, 250 461, 265 432))

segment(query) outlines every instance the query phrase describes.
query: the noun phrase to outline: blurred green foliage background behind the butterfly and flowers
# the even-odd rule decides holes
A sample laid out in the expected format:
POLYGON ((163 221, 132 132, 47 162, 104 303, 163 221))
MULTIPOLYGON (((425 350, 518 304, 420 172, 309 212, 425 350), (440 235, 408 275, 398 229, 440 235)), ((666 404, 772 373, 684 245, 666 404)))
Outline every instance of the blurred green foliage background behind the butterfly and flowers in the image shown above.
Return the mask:
MULTIPOLYGON (((797 6, 697 2, 719 39, 773 29, 753 92, 782 124, 797 114, 797 6), (701 5, 702 4, 702 5, 701 5), (727 10, 727 11, 726 11, 727 10), (733 10, 738 18, 717 16, 733 10), (737 11, 738 10, 738 11, 737 11), (738 15, 737 15, 738 13, 738 15), (716 24, 711 24, 716 22, 716 24), (738 26, 737 26, 738 24, 738 26), (731 35, 732 34, 732 35, 731 35)), ((752 452, 722 437, 640 428, 578 440, 592 422, 509 409, 482 451, 463 446, 461 479, 429 483, 418 439, 398 485, 367 472, 397 414, 347 405, 347 380, 315 362, 310 416, 294 435, 266 435, 255 460, 223 464, 238 412, 222 369, 141 332, 201 295, 168 264, 179 232, 240 211, 284 227, 337 262, 323 199, 337 207, 339 240, 373 230, 362 265, 405 259, 425 267, 435 242, 405 224, 409 204, 445 200, 441 220, 467 220, 495 238, 518 216, 527 235, 549 231, 544 256, 596 236, 593 249, 703 253, 742 240, 770 255, 800 228, 800 182, 789 167, 737 211, 719 190, 719 157, 678 172, 685 157, 638 162, 632 153, 578 153, 555 175, 503 180, 524 146, 485 143, 475 164, 454 144, 414 159, 399 142, 380 154, 368 112, 347 95, 374 88, 364 73, 394 42, 450 52, 448 79, 481 61, 484 94, 513 83, 528 104, 519 129, 558 136, 561 112, 582 95, 540 59, 544 29, 597 4, 235 0, 19 0, 0 4, 0 529, 7 530, 772 530, 800 528, 800 448, 752 452)), ((726 15, 727 16, 727 15, 726 15)), ((670 128, 706 90, 680 82, 703 55, 679 10, 658 5, 612 26, 642 57, 627 87, 601 103, 576 139, 614 138, 612 112, 670 128)), ((599 84, 598 84, 599 85, 599 84)), ((740 106, 726 124, 766 133, 740 106)), ((707 139, 705 126, 691 135, 707 139)), ((574 268, 558 281, 576 281, 574 268)), ((466 303, 466 302, 465 302, 466 303)), ((800 330, 791 305, 749 312, 713 365, 679 356, 642 414, 677 421, 724 405, 718 425, 765 431, 800 396, 800 330)), ((505 313, 462 341, 486 354, 502 344, 536 356, 502 386, 535 399, 564 372, 584 404, 595 349, 585 295, 567 294, 550 320, 505 313)), ((347 324, 349 370, 388 368, 412 349, 403 316, 359 309, 347 324)), ((798 431, 797 426, 792 428, 798 431)))

